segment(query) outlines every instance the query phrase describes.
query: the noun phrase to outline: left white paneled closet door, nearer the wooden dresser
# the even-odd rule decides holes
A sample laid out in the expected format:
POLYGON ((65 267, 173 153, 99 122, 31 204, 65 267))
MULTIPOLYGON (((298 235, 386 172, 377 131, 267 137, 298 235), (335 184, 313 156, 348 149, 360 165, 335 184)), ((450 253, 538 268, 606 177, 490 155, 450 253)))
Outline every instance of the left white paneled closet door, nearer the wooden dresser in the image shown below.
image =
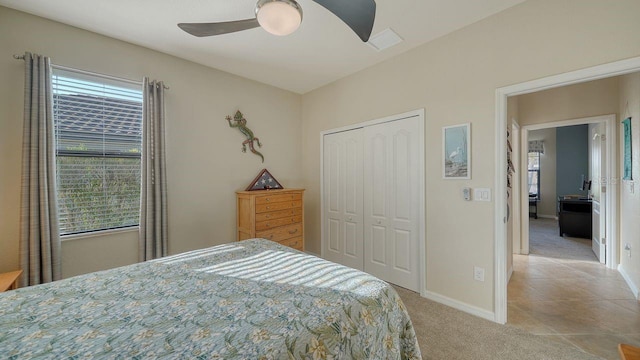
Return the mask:
POLYGON ((324 136, 324 257, 363 270, 362 129, 324 136))

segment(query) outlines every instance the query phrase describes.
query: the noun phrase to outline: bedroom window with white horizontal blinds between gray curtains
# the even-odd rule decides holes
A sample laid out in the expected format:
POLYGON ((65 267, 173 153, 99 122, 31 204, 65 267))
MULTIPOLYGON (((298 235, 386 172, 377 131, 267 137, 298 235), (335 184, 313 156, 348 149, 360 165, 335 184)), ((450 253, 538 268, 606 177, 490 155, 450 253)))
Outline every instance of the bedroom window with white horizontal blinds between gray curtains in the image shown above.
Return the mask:
POLYGON ((142 86, 55 69, 60 235, 136 226, 142 86))

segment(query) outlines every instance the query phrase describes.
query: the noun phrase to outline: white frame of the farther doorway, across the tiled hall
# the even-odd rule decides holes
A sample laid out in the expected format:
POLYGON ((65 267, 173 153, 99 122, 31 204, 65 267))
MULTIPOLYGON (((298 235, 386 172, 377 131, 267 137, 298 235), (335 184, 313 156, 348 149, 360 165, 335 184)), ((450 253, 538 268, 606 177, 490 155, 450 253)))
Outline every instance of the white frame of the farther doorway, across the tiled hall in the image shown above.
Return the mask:
MULTIPOLYGON (((618 148, 618 141, 617 141, 617 123, 616 123, 616 115, 615 114, 611 114, 611 115, 601 115, 601 116, 592 116, 592 117, 588 117, 588 118, 579 118, 579 119, 570 119, 570 120, 561 120, 561 121, 552 121, 552 122, 548 122, 548 123, 543 123, 543 124, 535 124, 535 125, 525 125, 522 127, 522 132, 521 132, 521 139, 522 139, 522 144, 528 144, 529 143, 529 131, 533 131, 533 130, 541 130, 541 129, 549 129, 549 128, 557 128, 557 127, 562 127, 562 126, 573 126, 573 125, 585 125, 585 124, 598 124, 598 123, 604 123, 605 124, 605 128, 606 128, 606 132, 607 132, 607 141, 606 141, 606 148, 607 148, 607 164, 605 164, 605 177, 606 179, 615 179, 616 178, 616 174, 617 172, 617 162, 616 162, 616 154, 617 151, 616 149, 618 148)), ((526 146, 523 145, 522 146, 522 152, 524 153, 522 155, 522 161, 524 162, 524 159, 527 159, 527 155, 524 151, 524 149, 526 149, 526 146)), ((526 186, 527 185, 527 177, 524 176, 524 172, 522 172, 520 174, 520 181, 522 183, 521 186, 526 186)), ((617 197, 617 193, 618 193, 618 185, 617 185, 617 181, 607 181, 607 196, 605 197, 605 204, 604 207, 606 209, 605 212, 605 222, 607 224, 607 228, 606 228, 606 239, 607 239, 607 249, 611 248, 613 249, 613 251, 615 251, 617 249, 618 246, 618 239, 617 239, 617 234, 616 234, 616 230, 617 227, 616 226, 612 226, 614 224, 618 223, 618 219, 617 219, 617 211, 616 209, 618 208, 618 197, 617 197), (610 225, 611 224, 611 225, 610 225)), ((522 201, 524 202, 525 199, 528 197, 528 194, 525 194, 525 192, 523 191, 523 193, 521 194, 521 198, 522 201)), ((523 254, 528 254, 529 253, 529 207, 524 205, 522 205, 521 209, 521 216, 522 216, 522 249, 523 249, 523 254), (525 214, 527 214, 527 216, 525 216, 525 214)), ((612 252, 613 252, 612 251, 612 252)), ((608 268, 610 269, 617 269, 618 264, 616 261, 617 258, 612 258, 610 256, 607 256, 606 260, 605 260, 605 264, 607 265, 608 268)))

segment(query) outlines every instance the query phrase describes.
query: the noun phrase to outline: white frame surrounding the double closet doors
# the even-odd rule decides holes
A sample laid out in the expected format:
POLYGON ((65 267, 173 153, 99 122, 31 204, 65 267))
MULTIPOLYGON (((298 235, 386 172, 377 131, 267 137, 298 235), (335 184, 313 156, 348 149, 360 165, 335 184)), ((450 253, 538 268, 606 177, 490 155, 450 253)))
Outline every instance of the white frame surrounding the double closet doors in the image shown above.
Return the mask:
MULTIPOLYGON (((421 166, 418 173, 420 174, 420 179, 418 179, 419 183, 419 199, 420 201, 420 210, 418 214, 418 219, 420 219, 418 224, 418 250, 420 252, 420 256, 418 256, 418 271, 420 272, 419 281, 420 281, 420 296, 425 297, 427 294, 427 264, 426 264, 426 229, 425 229, 425 111, 424 109, 418 109, 414 111, 409 111, 406 113, 387 116, 380 119, 365 121, 357 124, 347 125, 335 129, 324 130, 320 132, 320 241, 324 241, 325 233, 324 233, 324 136, 327 134, 333 134, 343 131, 349 131, 354 129, 359 129, 367 126, 382 124, 391 121, 398 121, 402 119, 407 119, 411 117, 418 117, 420 119, 420 133, 422 134, 422 141, 419 145, 419 158, 418 163, 421 166)), ((324 258, 324 246, 320 247, 320 257, 324 258)))

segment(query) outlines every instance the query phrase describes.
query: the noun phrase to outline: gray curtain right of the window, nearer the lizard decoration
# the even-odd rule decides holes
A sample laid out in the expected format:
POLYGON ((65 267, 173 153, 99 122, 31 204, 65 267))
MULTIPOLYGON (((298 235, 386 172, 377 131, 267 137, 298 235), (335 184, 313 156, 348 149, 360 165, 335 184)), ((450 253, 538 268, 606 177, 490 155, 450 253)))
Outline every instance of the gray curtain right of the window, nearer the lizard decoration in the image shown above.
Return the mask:
POLYGON ((164 89, 162 81, 143 80, 140 261, 168 253, 164 89))

